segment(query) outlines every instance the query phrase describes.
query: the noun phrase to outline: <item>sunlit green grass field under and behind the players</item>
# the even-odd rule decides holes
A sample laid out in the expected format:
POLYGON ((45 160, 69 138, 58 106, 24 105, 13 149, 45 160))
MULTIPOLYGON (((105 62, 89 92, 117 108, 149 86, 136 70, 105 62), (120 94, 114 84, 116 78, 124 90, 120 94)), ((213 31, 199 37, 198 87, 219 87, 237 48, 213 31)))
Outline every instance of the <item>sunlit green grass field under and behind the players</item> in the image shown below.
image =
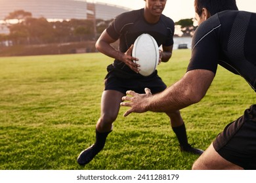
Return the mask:
MULTIPOLYGON (((158 66, 167 85, 186 71, 190 50, 174 50, 158 66)), ((0 58, 0 169, 186 170, 196 155, 179 151, 162 113, 130 114, 121 107, 106 146, 85 167, 76 163, 95 141, 106 66, 103 54, 0 58)), ((240 76, 219 67, 202 101, 181 110, 189 142, 205 149, 223 127, 255 103, 240 76)))

